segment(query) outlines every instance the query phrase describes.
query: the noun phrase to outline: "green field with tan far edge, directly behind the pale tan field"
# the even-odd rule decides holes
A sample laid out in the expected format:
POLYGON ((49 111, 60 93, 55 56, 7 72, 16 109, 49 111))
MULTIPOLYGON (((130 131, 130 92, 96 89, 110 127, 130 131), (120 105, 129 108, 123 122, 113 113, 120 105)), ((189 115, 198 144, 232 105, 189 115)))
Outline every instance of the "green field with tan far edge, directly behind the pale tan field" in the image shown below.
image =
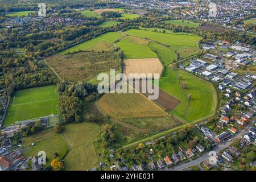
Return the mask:
POLYGON ((147 40, 127 36, 116 43, 116 45, 122 49, 125 59, 157 57, 156 53, 147 46, 148 43, 147 40))

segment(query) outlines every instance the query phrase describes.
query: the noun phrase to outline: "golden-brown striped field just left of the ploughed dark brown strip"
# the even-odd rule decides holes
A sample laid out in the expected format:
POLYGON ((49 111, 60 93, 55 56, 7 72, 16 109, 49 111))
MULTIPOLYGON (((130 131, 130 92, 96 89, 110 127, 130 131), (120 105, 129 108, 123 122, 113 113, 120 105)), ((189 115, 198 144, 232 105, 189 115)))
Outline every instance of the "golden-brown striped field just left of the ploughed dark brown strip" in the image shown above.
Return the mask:
POLYGON ((100 109, 113 118, 167 117, 168 113, 141 93, 110 93, 100 99, 100 109))

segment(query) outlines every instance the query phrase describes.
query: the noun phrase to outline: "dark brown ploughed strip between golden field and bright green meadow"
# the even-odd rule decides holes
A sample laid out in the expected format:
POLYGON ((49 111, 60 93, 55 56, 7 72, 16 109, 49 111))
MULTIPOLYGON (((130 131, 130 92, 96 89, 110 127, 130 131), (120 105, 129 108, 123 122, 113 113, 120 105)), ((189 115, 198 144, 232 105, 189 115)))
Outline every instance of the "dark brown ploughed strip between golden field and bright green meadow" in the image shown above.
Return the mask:
MULTIPOLYGON (((135 86, 136 89, 138 89, 140 92, 142 92, 142 82, 146 82, 146 81, 140 81, 139 84, 139 89, 135 86)), ((151 84, 150 82, 147 81, 147 84, 151 84)), ((154 89, 155 85, 152 86, 152 88, 154 89)), ((154 100, 154 102, 156 102, 156 104, 162 106, 165 110, 167 111, 171 111, 173 110, 177 105, 180 104, 180 100, 177 100, 175 97, 172 97, 170 94, 164 92, 164 90, 159 89, 159 97, 154 100)), ((143 93, 145 96, 150 96, 152 94, 148 93, 148 90, 146 90, 146 93, 143 93)))

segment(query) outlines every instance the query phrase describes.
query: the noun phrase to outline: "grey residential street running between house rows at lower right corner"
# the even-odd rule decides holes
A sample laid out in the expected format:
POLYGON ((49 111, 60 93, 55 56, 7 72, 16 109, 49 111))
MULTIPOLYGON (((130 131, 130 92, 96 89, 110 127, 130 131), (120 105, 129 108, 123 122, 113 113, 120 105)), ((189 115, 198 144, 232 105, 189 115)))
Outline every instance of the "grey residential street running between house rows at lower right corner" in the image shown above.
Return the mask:
MULTIPOLYGON (((250 123, 248 123, 247 126, 245 126, 244 129, 242 129, 233 139, 235 138, 241 138, 243 134, 248 131, 248 129, 254 124, 254 121, 251 120, 250 123)), ((229 147, 230 144, 232 144, 232 140, 230 142, 225 142, 223 144, 219 144, 217 147, 215 147, 213 150, 216 151, 217 153, 223 150, 226 147, 229 147)), ((208 152, 205 153, 203 156, 200 156, 199 158, 192 160, 191 162, 180 164, 179 166, 174 166, 173 169, 167 169, 167 171, 181 171, 185 168, 200 164, 203 162, 205 159, 208 159, 210 156, 208 155, 208 152)))

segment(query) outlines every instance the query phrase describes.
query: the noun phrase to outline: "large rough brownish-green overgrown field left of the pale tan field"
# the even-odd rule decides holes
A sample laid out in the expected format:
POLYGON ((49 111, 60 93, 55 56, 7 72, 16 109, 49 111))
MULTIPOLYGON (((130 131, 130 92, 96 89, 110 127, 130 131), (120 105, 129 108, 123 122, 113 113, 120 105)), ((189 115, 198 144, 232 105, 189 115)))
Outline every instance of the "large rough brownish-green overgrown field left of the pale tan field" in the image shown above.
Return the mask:
POLYGON ((110 68, 119 70, 119 59, 113 52, 79 52, 55 55, 46 59, 56 73, 67 81, 90 80, 110 68))

